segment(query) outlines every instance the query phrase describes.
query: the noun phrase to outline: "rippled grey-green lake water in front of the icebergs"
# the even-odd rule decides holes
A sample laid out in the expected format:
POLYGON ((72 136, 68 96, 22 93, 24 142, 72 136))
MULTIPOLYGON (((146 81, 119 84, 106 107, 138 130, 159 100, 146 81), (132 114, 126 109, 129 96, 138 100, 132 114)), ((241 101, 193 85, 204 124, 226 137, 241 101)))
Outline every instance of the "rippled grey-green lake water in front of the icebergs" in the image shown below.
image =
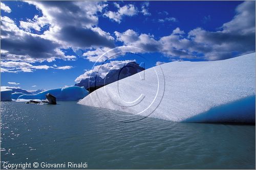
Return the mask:
POLYGON ((122 123, 108 112, 76 102, 1 102, 1 168, 4 162, 87 162, 88 169, 255 168, 255 125, 156 118, 122 123))

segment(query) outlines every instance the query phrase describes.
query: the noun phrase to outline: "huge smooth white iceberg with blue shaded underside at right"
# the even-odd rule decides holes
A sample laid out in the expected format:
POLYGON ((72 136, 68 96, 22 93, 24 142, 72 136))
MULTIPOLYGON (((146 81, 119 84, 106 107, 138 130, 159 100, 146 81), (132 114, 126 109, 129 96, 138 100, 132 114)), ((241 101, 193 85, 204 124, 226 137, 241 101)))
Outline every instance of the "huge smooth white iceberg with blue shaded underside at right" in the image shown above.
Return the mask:
POLYGON ((78 104, 175 122, 255 122, 255 53, 162 64, 97 89, 78 104))

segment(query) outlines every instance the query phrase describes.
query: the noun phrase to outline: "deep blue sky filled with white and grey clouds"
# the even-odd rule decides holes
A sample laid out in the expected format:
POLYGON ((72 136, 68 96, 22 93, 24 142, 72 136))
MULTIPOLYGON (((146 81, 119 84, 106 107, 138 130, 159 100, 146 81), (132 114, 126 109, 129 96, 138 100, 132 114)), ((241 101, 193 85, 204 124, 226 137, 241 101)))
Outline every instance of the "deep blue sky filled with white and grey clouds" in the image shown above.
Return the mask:
POLYGON ((1 86, 52 89, 130 61, 253 52, 254 1, 1 1, 1 86))

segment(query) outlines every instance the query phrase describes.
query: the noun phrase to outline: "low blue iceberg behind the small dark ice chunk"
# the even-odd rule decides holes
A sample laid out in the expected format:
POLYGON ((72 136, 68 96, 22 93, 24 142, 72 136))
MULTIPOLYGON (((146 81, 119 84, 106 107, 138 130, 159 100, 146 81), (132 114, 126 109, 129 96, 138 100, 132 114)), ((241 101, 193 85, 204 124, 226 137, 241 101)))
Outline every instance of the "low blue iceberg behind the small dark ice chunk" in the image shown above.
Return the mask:
POLYGON ((23 94, 18 97, 17 100, 20 99, 39 99, 39 100, 46 100, 46 94, 50 93, 56 97, 57 101, 78 101, 89 94, 84 87, 78 86, 70 86, 70 87, 63 87, 57 89, 51 89, 39 92, 37 94, 23 94))

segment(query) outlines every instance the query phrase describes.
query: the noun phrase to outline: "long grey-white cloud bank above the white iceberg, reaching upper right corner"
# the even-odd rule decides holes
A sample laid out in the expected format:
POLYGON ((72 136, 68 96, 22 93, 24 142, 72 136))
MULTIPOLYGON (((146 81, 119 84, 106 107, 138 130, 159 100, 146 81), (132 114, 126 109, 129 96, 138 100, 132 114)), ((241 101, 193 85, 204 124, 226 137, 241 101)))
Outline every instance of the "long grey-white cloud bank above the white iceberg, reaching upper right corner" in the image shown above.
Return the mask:
POLYGON ((185 35, 180 28, 173 33, 155 39, 154 35, 139 34, 134 30, 115 32, 116 39, 124 45, 136 46, 147 52, 159 52, 170 58, 203 58, 223 60, 255 51, 255 2, 246 1, 236 8, 236 15, 223 24, 220 31, 211 32, 202 28, 185 35))

